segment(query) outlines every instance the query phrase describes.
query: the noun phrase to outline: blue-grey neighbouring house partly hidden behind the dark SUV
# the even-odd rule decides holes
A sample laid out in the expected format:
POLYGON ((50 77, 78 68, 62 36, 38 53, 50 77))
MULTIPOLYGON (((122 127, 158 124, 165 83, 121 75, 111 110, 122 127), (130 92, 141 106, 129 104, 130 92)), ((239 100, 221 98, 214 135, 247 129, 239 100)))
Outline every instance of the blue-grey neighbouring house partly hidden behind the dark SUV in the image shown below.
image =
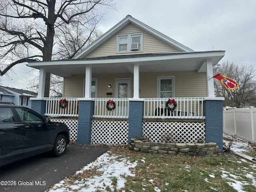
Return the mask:
POLYGON ((31 108, 30 98, 37 94, 32 91, 0 86, 0 104, 22 105, 31 108))

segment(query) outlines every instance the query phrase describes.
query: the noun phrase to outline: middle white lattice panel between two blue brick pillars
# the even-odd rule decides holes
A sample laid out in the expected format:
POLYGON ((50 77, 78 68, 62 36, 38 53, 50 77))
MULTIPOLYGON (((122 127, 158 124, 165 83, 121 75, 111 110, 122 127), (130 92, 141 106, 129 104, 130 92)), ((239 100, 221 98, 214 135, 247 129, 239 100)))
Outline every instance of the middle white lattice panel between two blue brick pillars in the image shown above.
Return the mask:
POLYGON ((127 120, 92 120, 91 144, 128 144, 127 120))

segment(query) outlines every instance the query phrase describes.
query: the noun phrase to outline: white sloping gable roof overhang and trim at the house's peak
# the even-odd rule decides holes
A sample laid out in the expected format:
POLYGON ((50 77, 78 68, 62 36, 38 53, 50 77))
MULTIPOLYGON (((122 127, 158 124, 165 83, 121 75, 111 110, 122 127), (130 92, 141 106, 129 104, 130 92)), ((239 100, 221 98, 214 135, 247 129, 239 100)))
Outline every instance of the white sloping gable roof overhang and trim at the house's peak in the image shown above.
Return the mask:
POLYGON ((100 38, 98 38, 96 41, 94 41, 92 44, 90 44, 88 47, 86 47, 84 50, 82 50, 79 54, 74 56, 73 59, 79 59, 84 58, 88 54, 90 54, 92 51, 94 51, 96 48, 101 46, 104 42, 106 42, 108 39, 110 39, 112 36, 114 36, 116 33, 118 33, 120 30, 122 30, 124 27, 126 27, 128 24, 133 24, 134 26, 148 32, 152 36, 158 38, 159 40, 162 40, 166 44, 169 44, 170 46, 173 46, 180 52, 192 52, 193 50, 176 42, 175 40, 169 38, 168 36, 158 32, 157 30, 154 30, 153 28, 147 26, 146 24, 140 22, 139 20, 136 20, 130 15, 127 15, 123 20, 121 20, 118 24, 116 24, 114 27, 112 27, 108 32, 106 32, 104 35, 102 35, 100 38))

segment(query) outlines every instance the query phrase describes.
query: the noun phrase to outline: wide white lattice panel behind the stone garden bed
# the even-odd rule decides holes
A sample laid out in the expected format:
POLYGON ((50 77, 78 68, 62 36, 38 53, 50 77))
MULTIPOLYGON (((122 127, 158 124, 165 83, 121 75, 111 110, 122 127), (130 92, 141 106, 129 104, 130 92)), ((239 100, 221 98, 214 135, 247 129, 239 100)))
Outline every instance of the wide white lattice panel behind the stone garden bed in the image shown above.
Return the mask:
POLYGON ((143 122, 142 135, 152 142, 163 142, 171 137, 177 143, 205 142, 204 122, 143 122))

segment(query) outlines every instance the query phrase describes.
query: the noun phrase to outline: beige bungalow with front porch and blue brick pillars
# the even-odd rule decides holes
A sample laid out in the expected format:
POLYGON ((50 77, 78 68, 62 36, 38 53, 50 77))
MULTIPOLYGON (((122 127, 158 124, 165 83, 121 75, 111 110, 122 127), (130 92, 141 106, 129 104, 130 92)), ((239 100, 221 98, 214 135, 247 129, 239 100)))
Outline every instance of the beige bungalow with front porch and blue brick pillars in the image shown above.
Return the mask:
POLYGON ((211 77, 224 53, 195 52, 128 15, 70 60, 28 63, 40 70, 32 108, 64 122, 78 117, 80 144, 143 136, 222 149, 224 98, 211 77), (46 72, 64 77, 63 98, 44 98, 46 72))

